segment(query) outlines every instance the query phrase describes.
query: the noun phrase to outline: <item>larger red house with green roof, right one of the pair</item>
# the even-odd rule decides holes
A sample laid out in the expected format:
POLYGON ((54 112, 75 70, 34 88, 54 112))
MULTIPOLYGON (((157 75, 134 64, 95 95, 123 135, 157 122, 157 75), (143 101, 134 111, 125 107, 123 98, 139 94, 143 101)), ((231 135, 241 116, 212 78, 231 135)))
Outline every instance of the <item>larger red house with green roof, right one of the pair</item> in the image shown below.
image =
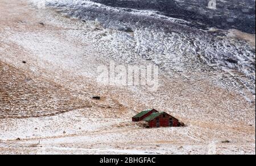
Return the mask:
POLYGON ((143 121, 148 122, 148 126, 152 127, 179 127, 182 124, 179 122, 178 119, 172 117, 171 115, 167 114, 166 112, 162 113, 152 113, 148 115, 143 121))

